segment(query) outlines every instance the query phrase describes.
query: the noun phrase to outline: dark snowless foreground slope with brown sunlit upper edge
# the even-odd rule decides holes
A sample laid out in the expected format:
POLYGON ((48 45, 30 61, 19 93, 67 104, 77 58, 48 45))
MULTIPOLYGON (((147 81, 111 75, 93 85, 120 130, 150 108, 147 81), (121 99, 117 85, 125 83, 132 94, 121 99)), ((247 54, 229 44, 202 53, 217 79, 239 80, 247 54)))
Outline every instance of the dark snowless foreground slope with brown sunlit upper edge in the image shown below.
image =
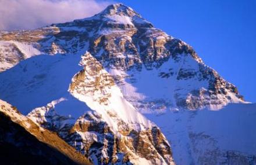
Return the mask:
POLYGON ((91 164, 56 134, 0 100, 0 158, 3 164, 91 164))

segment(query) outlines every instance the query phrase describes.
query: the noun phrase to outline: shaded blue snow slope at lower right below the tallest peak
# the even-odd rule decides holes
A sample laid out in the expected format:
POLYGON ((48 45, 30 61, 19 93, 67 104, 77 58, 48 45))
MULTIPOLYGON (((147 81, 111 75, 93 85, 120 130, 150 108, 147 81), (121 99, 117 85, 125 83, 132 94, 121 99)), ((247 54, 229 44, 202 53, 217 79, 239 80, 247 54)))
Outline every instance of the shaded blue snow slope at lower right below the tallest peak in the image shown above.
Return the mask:
POLYGON ((145 116, 166 135, 177 164, 256 163, 255 104, 145 116))

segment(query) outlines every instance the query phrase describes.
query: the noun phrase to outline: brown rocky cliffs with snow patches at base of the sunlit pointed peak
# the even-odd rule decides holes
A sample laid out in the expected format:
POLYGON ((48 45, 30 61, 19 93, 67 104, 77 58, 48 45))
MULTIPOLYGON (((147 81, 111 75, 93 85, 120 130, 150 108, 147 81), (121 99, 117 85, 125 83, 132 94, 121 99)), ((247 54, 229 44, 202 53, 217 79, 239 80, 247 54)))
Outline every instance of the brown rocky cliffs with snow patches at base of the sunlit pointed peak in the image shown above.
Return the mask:
MULTIPOLYGON (((44 112, 44 109, 40 109, 40 112, 35 109, 28 117, 45 129, 55 131, 94 164, 174 164, 169 142, 157 126, 137 130, 130 123, 110 113, 105 118, 118 120, 118 129, 113 129, 101 114, 91 111, 70 125, 66 124, 69 118, 60 118, 54 109, 49 109, 45 115, 47 118, 41 121, 43 117, 38 113, 44 112), (55 115, 51 115, 52 113, 55 115)), ((136 124, 140 126, 140 123, 136 124)))

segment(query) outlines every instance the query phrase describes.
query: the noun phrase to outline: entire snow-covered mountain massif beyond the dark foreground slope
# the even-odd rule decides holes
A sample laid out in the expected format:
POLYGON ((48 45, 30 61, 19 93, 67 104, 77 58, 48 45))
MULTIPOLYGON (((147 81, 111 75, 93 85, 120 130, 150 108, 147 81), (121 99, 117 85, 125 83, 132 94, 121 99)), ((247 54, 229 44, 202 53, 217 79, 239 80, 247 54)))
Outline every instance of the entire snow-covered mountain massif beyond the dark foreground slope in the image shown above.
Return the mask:
POLYGON ((207 133, 202 120, 245 122, 248 112, 253 121, 255 105, 191 46, 122 3, 87 19, 1 32, 0 63, 0 98, 94 164, 255 162, 254 145, 222 148, 235 140, 207 133), (230 103, 246 110, 211 115, 230 103))

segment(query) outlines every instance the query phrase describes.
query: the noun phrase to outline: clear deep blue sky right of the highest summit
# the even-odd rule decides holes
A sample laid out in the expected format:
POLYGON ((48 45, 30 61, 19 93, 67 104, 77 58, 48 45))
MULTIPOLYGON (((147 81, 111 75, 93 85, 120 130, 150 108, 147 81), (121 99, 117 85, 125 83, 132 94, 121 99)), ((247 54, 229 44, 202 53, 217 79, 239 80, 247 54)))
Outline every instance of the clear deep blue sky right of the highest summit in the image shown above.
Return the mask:
POLYGON ((256 102, 255 0, 116 1, 193 46, 205 64, 256 102))

